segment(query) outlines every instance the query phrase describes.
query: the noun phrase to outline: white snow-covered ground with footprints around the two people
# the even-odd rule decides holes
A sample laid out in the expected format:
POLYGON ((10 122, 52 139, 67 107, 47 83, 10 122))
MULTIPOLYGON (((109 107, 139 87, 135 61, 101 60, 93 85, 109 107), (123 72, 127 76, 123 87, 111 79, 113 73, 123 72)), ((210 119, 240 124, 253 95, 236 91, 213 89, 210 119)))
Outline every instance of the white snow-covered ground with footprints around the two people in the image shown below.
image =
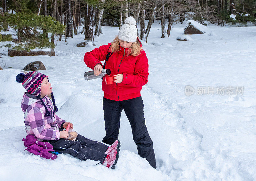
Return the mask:
MULTIPOLYGON (((155 23, 148 44, 143 43, 149 77, 141 94, 157 170, 138 156, 124 112, 115 170, 69 155, 46 160, 23 151, 26 132, 20 102, 24 88, 15 76, 17 69, 32 61, 42 61, 47 69, 40 72, 52 83, 57 115, 73 122, 74 129, 88 138, 101 141, 105 135, 101 79, 85 81, 83 77, 90 70, 84 54, 95 47, 76 47, 84 38, 77 35, 68 44, 58 41, 55 57, 0 59, 12 67, 0 71, 0 179, 256 180, 256 26, 208 25, 216 35, 190 35, 193 40, 177 41, 183 27, 174 25, 171 37, 161 39, 161 25, 155 23), (191 96, 185 95, 187 85, 195 89, 191 96), (205 95, 197 95, 200 86, 206 87, 205 95), (208 87, 218 86, 226 89, 225 95, 217 95, 216 90, 213 95, 207 93, 208 87), (229 86, 235 89, 234 95, 227 94, 229 86), (237 96, 236 86, 244 86, 237 96)), ((118 27, 103 27, 103 33, 94 40, 96 47, 111 42, 118 27)), ((2 48, 0 53, 7 51, 2 48)))

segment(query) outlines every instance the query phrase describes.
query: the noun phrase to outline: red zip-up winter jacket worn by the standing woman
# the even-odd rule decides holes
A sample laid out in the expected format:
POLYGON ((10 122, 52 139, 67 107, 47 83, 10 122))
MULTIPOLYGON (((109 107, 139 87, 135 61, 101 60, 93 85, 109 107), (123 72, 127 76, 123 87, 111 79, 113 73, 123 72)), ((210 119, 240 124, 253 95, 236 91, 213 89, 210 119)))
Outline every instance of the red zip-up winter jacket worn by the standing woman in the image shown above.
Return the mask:
MULTIPOLYGON (((108 43, 108 45, 103 45, 91 52, 87 52, 84 55, 84 62, 87 67, 94 69, 97 63, 102 66, 100 61, 105 61, 106 55, 111 52, 110 45, 111 43, 108 43)), ((131 54, 127 56, 128 48, 119 47, 120 50, 113 52, 108 61, 106 61, 105 69, 111 70, 110 76, 123 74, 124 80, 121 83, 113 82, 113 84, 107 85, 105 77, 103 77, 102 90, 104 91, 104 98, 122 101, 140 97, 142 86, 148 82, 148 58, 146 53, 142 50, 138 56, 131 54)))

